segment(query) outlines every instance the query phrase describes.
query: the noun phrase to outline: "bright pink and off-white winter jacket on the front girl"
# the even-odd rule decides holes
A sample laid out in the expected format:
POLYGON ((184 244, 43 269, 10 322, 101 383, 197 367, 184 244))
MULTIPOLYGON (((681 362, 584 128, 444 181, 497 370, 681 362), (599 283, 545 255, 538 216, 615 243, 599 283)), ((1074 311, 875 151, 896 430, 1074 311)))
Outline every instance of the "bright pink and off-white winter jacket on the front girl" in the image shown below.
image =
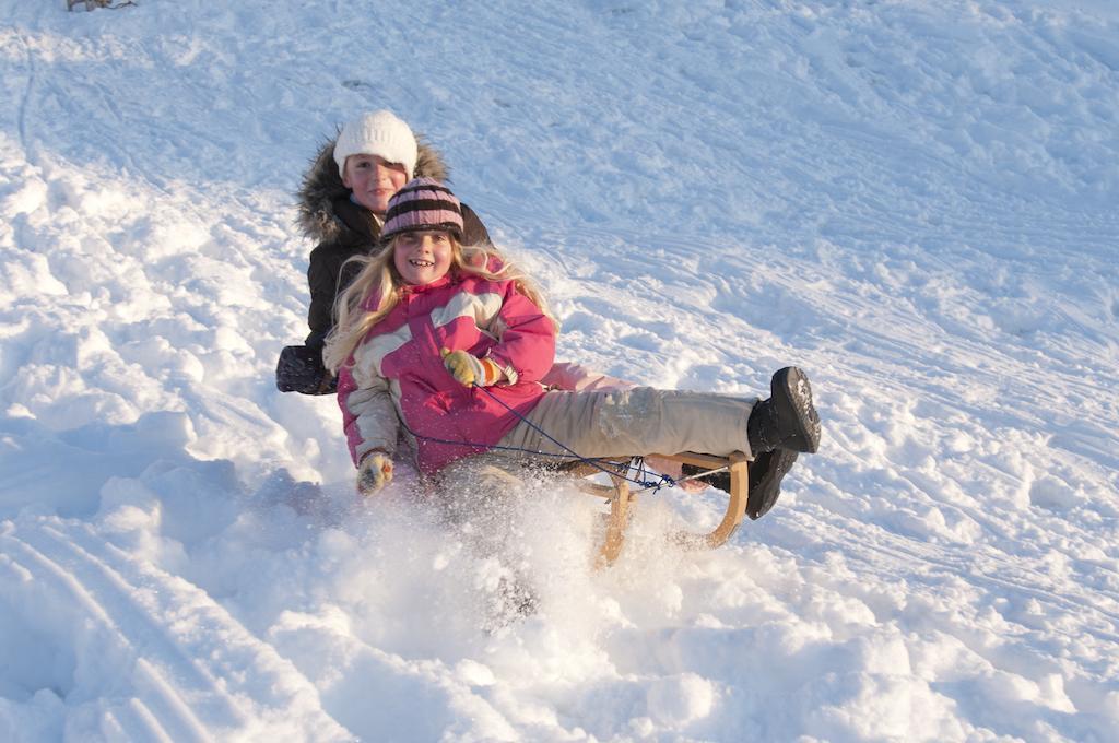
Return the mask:
POLYGON ((487 451, 519 422, 505 405, 524 415, 544 395, 539 380, 555 358, 555 336, 552 320, 511 281, 452 272, 404 286, 338 375, 354 463, 373 449, 392 455, 401 422, 416 434, 421 472, 487 451), (464 387, 443 366, 443 348, 489 356, 507 380, 464 387))

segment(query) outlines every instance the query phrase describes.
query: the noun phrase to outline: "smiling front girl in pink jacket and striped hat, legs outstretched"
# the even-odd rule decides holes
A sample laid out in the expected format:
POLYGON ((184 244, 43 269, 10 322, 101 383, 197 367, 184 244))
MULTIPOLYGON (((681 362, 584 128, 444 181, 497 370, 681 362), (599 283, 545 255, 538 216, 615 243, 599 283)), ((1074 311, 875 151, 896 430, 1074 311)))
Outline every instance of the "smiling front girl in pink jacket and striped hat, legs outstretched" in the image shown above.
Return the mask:
MULTIPOLYGON (((574 459, 572 451, 796 459, 819 445, 811 389, 794 367, 773 375, 763 402, 651 387, 546 391, 539 380, 554 360, 556 323, 492 246, 460 244, 461 205, 439 181, 419 178, 397 191, 382 234, 388 247, 361 258, 325 352, 365 495, 392 479, 402 430, 426 476, 452 462, 510 470, 539 454, 574 459)), ((754 518, 772 506, 751 501, 754 518)))

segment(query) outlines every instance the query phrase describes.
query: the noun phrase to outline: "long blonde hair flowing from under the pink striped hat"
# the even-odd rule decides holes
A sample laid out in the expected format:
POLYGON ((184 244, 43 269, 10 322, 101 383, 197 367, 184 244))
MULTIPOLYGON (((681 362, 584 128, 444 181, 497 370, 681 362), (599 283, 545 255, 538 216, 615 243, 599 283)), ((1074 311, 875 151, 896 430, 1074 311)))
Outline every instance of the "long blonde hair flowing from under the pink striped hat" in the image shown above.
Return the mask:
MULTIPOLYGON (((399 302, 401 289, 405 285, 394 261, 396 241, 399 237, 393 237, 376 255, 357 255, 346 261, 346 265, 356 263, 361 269, 335 300, 338 321, 327 336, 327 345, 322 351, 327 368, 335 374, 347 363, 373 327, 384 320, 399 302)), ((540 308, 540 312, 558 329, 560 323, 548 311, 536 283, 492 245, 461 245, 452 235, 449 273, 454 272, 474 274, 490 281, 514 282, 517 291, 540 308)))

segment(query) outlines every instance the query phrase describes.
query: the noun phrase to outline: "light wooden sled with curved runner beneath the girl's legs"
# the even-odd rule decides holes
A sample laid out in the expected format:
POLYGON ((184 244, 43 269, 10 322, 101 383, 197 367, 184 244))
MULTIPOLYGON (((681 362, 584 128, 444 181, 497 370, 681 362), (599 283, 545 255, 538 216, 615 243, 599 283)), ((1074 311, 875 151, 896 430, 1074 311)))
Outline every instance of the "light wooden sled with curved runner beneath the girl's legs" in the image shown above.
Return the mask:
MULTIPOLYGON (((749 467, 750 460, 742 452, 733 452, 730 457, 713 457, 711 454, 696 454, 684 452, 681 454, 657 454, 661 459, 693 464, 703 470, 727 469, 731 473, 731 492, 727 497, 726 512, 723 520, 713 532, 707 534, 695 534, 692 532, 675 532, 669 538, 687 549, 713 549, 723 545, 731 535, 742 524, 742 518, 746 512, 746 499, 749 497, 749 467)), ((602 545, 599 547, 594 559, 595 567, 606 567, 615 559, 626 543, 626 528, 629 526, 631 509, 636 506, 639 492, 630 489, 630 482, 621 473, 629 467, 629 460, 613 462, 620 474, 610 473, 612 486, 599 485, 596 482, 581 481, 580 489, 598 498, 605 498, 610 504, 610 514, 606 516, 606 529, 602 545)), ((601 472, 602 470, 586 463, 576 463, 570 470, 577 477, 587 477, 601 472)))

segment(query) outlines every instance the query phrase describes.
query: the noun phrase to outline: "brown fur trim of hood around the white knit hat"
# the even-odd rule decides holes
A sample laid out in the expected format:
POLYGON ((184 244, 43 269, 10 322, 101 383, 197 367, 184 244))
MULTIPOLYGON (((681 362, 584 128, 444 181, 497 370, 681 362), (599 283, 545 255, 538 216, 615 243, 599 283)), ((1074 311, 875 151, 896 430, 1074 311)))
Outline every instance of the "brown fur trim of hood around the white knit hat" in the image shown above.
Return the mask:
MULTIPOLYGON (((299 188, 299 216, 297 224, 300 231, 318 243, 338 239, 346 229, 345 224, 335 213, 335 201, 348 198, 349 189, 342 186, 338 175, 338 163, 335 162, 335 135, 319 148, 319 153, 311 161, 311 167, 303 173, 303 184, 299 188)), ((420 156, 416 158, 413 178, 426 177, 446 181, 450 170, 443 162, 443 156, 423 141, 416 134, 420 156)))

